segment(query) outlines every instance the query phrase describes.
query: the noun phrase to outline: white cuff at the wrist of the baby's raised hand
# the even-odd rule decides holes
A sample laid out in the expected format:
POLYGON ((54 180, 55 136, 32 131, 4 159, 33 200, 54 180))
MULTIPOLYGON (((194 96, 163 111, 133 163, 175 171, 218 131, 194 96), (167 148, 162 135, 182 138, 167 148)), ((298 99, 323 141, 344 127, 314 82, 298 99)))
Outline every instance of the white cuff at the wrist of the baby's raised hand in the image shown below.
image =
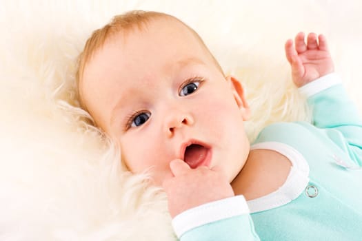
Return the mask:
POLYGON ((317 78, 315 81, 303 85, 299 88, 299 91, 302 94, 305 94, 307 97, 310 97, 321 92, 322 90, 326 90, 329 87, 338 85, 340 83, 342 83, 341 78, 339 78, 336 73, 331 73, 326 74, 325 76, 321 76, 321 78, 317 78))

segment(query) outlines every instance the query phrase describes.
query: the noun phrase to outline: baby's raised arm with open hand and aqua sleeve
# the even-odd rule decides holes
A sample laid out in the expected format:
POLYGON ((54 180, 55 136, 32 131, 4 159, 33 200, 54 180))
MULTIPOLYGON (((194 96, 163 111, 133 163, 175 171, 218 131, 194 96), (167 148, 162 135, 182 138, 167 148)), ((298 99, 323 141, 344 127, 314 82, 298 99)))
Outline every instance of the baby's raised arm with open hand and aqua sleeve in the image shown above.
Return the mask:
POLYGON ((313 125, 325 129, 336 145, 350 159, 362 166, 362 118, 345 92, 339 77, 332 73, 332 59, 323 35, 309 34, 307 43, 299 33, 285 43, 285 54, 292 67, 292 78, 299 90, 308 96, 313 110, 313 125))

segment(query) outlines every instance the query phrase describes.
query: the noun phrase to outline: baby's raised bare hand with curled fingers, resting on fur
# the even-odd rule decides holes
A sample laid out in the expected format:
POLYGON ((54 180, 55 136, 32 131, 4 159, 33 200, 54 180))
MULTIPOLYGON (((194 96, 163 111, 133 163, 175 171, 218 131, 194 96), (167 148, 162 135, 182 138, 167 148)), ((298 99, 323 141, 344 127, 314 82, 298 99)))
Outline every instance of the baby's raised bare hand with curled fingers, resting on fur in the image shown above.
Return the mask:
POLYGON ((334 71, 327 41, 323 35, 319 35, 317 41, 316 34, 310 33, 305 43, 304 33, 299 32, 295 37, 295 48, 292 39, 285 43, 285 54, 292 65, 292 78, 297 87, 334 71))

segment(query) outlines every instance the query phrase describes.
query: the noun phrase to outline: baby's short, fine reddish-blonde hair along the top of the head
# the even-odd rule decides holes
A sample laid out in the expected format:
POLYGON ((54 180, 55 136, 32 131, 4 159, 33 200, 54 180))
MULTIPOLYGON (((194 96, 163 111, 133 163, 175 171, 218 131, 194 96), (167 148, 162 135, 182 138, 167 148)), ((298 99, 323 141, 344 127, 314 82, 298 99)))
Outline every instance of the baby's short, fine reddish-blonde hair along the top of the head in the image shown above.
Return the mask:
POLYGON ((150 23, 150 21, 154 19, 174 19, 176 21, 179 21, 183 25, 185 25, 188 30, 196 36, 199 43, 201 43, 201 46, 210 54, 212 57, 212 60, 214 61, 217 68, 223 73, 223 70, 221 69, 221 66, 217 62, 217 60, 214 58, 214 56, 211 54, 208 47, 205 45, 199 34, 195 32, 192 28, 190 28, 188 25, 177 19, 176 17, 173 17, 169 14, 165 14, 162 12, 146 12, 141 10, 134 10, 130 12, 126 12, 125 14, 117 15, 112 18, 112 21, 105 25, 103 28, 99 28, 98 30, 95 30, 90 38, 87 40, 86 45, 84 46, 83 52, 79 54, 78 57, 78 67, 77 67, 77 73, 76 73, 76 81, 77 81, 77 94, 78 99, 81 107, 85 110, 86 105, 83 103, 81 99, 81 94, 79 92, 79 85, 83 78, 83 72, 87 65, 87 63, 92 59, 92 56, 94 52, 99 50, 99 48, 103 47, 105 41, 109 39, 110 37, 114 36, 115 34, 122 32, 123 34, 128 34, 130 30, 133 30, 134 28, 138 28, 139 30, 143 30, 143 27, 150 23))

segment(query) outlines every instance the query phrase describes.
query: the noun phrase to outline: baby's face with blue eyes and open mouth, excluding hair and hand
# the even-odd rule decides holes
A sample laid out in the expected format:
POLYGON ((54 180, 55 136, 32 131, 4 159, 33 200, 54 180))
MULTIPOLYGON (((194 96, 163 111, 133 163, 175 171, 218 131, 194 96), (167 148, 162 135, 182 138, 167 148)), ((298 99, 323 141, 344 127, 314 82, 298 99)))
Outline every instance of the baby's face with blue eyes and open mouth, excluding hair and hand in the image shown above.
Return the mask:
POLYGON ((106 41, 86 66, 81 96, 128 168, 150 170, 157 185, 175 158, 192 168, 219 165, 231 182, 248 156, 241 85, 177 21, 106 41))

